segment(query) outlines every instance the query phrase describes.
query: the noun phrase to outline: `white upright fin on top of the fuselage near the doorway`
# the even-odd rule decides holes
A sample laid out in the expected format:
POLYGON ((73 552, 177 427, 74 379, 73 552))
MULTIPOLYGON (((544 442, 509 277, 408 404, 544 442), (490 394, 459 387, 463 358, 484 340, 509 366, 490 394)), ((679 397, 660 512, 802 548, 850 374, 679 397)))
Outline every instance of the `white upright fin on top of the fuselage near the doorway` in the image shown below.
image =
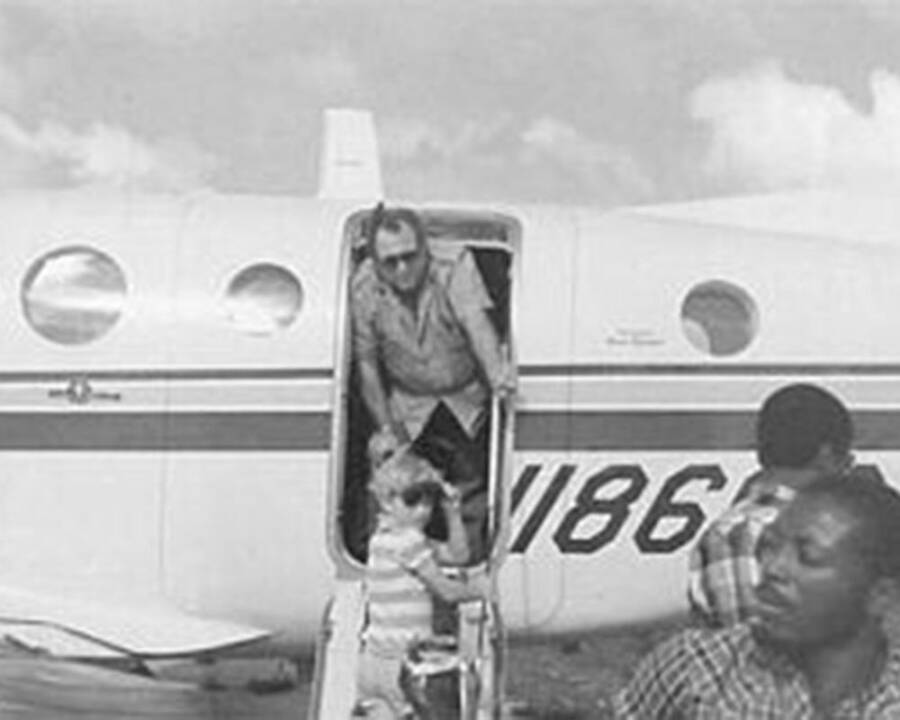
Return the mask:
POLYGON ((370 112, 325 111, 319 197, 358 200, 383 197, 378 141, 370 112))

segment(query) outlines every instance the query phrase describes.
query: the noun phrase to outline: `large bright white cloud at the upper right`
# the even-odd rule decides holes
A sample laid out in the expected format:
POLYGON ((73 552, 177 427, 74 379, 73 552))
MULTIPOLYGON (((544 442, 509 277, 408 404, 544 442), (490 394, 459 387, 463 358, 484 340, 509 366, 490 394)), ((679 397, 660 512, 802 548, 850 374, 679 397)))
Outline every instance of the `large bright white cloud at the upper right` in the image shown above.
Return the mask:
POLYGON ((900 80, 875 71, 870 85, 864 112, 774 64, 704 83, 690 109, 711 132, 705 171, 751 190, 900 182, 900 80))

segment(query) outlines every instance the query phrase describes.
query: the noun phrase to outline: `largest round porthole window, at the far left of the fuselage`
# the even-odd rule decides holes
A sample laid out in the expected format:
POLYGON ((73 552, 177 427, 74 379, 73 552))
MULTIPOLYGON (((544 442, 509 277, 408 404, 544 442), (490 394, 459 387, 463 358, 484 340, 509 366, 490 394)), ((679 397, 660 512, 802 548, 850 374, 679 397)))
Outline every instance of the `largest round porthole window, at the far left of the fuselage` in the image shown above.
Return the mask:
POLYGON ((86 246, 38 258, 22 281, 22 311, 43 337, 82 345, 105 335, 122 314, 125 275, 107 254, 86 246))

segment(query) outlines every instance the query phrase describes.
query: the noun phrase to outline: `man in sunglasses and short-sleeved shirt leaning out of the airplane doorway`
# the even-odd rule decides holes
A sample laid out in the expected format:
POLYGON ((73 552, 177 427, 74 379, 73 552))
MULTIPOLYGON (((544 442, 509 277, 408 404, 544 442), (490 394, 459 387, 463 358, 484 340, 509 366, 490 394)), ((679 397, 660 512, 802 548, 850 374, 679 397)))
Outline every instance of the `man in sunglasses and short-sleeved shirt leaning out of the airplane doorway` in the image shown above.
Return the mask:
POLYGON ((466 467, 483 485, 487 398, 511 392, 513 376, 472 253, 461 243, 429 242, 407 208, 379 206, 367 244, 350 302, 375 432, 382 444, 413 443, 450 482, 461 480, 451 477, 453 467, 466 467))

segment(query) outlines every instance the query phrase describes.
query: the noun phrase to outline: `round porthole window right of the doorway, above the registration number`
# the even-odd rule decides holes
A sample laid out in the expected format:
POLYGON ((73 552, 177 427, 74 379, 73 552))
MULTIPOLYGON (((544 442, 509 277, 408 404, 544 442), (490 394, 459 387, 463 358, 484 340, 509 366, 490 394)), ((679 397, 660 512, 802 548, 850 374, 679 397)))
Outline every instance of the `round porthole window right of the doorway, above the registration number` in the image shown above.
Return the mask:
POLYGON ((742 288, 724 280, 695 285, 681 305, 681 327, 695 348, 707 355, 734 355, 756 336, 756 303, 742 288))

